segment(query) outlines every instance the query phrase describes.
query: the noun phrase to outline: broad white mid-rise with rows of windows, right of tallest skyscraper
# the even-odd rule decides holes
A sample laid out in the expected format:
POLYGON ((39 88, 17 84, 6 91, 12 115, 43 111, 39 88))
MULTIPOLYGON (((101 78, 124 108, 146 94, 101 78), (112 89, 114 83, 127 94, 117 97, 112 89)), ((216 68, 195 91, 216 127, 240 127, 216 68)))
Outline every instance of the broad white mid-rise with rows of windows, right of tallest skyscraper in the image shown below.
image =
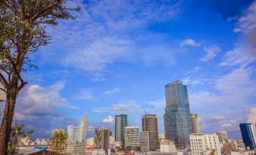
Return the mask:
POLYGON ((221 144, 215 134, 193 133, 190 144, 192 155, 202 155, 207 150, 217 150, 217 154, 221 155, 221 144))

